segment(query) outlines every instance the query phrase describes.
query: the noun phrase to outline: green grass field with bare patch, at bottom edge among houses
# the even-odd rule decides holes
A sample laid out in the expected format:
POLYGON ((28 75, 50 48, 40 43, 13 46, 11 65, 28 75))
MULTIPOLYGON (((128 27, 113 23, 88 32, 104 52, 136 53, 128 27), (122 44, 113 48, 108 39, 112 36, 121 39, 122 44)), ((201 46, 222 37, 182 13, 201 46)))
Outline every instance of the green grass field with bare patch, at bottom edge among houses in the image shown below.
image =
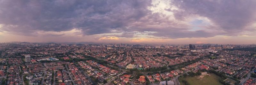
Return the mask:
POLYGON ((202 75, 195 77, 180 77, 179 81, 181 85, 185 85, 182 80, 188 81, 190 85, 223 85, 220 83, 220 77, 214 73, 202 73, 202 75))

